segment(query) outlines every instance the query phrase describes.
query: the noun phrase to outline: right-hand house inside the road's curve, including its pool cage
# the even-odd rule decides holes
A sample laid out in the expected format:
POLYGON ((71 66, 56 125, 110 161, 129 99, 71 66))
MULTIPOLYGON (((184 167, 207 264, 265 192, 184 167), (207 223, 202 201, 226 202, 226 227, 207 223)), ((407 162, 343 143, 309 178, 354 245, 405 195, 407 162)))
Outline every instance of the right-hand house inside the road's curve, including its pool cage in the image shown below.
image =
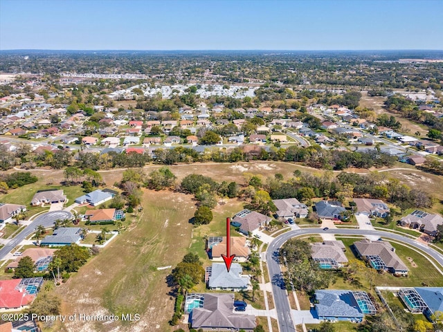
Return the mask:
POLYGON ((395 253, 395 248, 387 241, 371 241, 363 239, 354 242, 354 248, 359 258, 368 261, 376 270, 389 271, 395 275, 407 275, 409 269, 395 253))

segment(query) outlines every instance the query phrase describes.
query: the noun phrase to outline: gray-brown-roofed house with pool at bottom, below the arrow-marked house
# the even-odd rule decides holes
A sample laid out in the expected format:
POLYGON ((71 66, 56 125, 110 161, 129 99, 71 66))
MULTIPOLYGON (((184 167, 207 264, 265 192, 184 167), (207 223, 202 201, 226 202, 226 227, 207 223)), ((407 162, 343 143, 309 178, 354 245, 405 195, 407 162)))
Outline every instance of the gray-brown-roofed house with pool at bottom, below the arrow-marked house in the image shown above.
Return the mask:
MULTIPOLYGON (((195 295, 188 295, 195 302, 195 295)), ((204 331, 253 331, 255 316, 234 312, 234 294, 205 293, 197 295, 201 306, 190 312, 189 322, 192 329, 204 331)), ((186 298, 188 301, 188 297, 186 298)))

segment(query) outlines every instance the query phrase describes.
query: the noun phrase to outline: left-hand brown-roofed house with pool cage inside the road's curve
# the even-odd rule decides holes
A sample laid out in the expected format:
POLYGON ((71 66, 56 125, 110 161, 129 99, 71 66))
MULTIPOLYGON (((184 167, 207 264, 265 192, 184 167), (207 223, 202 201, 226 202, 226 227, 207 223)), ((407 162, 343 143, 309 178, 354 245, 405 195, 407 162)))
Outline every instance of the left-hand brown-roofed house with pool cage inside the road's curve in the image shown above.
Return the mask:
POLYGON ((311 257, 320 268, 341 268, 347 263, 345 245, 342 241, 323 241, 311 243, 311 257))

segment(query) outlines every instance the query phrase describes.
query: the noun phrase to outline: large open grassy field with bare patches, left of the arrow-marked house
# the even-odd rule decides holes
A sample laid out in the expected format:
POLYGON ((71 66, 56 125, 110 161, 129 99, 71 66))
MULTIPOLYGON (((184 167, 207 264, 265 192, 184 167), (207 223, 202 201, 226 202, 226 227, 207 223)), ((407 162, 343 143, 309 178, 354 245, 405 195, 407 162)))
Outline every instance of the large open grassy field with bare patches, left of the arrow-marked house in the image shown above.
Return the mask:
POLYGON ((57 288, 63 312, 139 313, 141 320, 125 322, 72 322, 53 331, 172 331, 174 299, 167 277, 188 252, 195 207, 191 196, 144 190, 143 216, 100 252, 79 273, 57 288))

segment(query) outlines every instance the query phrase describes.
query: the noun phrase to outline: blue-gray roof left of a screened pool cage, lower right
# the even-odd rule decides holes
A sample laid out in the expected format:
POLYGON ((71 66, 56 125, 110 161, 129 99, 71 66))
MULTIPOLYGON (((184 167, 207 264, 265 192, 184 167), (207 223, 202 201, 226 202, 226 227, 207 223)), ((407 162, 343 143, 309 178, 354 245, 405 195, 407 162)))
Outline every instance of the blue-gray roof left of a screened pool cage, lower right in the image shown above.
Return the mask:
POLYGON ((316 291, 320 317, 363 317, 352 291, 316 291))

